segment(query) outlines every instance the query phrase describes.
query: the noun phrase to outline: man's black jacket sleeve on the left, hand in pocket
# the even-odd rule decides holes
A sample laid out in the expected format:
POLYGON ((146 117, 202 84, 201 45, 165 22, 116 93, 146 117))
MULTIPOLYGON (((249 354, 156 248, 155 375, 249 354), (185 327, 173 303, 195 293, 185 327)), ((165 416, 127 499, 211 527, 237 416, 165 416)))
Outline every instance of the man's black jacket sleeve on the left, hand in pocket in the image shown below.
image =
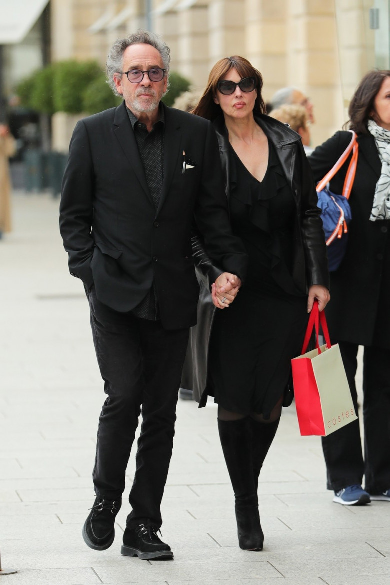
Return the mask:
POLYGON ((70 273, 90 288, 94 173, 85 123, 78 122, 70 143, 60 203, 60 231, 69 254, 70 273))

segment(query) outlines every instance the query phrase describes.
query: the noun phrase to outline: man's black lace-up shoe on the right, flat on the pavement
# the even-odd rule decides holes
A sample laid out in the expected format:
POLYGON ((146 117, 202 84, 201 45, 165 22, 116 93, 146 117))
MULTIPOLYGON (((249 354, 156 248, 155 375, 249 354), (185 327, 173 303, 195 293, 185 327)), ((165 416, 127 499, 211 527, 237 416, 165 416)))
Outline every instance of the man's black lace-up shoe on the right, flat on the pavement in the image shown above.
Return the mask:
POLYGON ((158 538, 153 526, 144 524, 136 528, 126 528, 120 552, 122 555, 137 556, 143 560, 173 559, 171 547, 158 538))

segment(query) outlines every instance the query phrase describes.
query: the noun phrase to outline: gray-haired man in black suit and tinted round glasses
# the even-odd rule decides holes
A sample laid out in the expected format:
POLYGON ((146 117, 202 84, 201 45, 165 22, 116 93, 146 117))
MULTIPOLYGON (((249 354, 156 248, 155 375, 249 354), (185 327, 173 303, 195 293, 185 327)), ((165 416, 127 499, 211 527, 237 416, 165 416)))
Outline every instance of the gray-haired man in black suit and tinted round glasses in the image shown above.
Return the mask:
POLYGON ((196 324, 194 225, 220 267, 214 277, 222 300, 213 301, 219 308, 233 302, 247 262, 230 229, 210 122, 161 103, 169 68, 170 49, 153 33, 138 31, 113 45, 107 73, 123 103, 77 124, 60 205, 61 235, 71 274, 84 283, 107 395, 84 541, 95 550, 114 541, 141 415, 122 546, 122 555, 140 559, 173 558, 157 532, 181 370, 196 324))

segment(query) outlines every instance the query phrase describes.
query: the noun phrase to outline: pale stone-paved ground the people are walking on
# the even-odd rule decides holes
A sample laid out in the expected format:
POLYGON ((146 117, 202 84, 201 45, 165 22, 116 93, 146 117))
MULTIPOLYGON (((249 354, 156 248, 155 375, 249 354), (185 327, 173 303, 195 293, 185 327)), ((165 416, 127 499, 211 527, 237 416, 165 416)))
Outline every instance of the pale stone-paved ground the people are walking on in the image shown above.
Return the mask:
MULTIPOLYGON (((58 199, 16 192, 0 242, 0 585, 388 585, 390 504, 342 507, 326 491, 319 438, 294 406, 260 479, 265 547, 237 545, 216 407, 180 400, 163 503, 169 562, 120 556, 129 505, 105 552, 84 544, 104 400, 80 281, 68 274, 58 199)), ((128 485, 134 470, 128 469, 128 485)))

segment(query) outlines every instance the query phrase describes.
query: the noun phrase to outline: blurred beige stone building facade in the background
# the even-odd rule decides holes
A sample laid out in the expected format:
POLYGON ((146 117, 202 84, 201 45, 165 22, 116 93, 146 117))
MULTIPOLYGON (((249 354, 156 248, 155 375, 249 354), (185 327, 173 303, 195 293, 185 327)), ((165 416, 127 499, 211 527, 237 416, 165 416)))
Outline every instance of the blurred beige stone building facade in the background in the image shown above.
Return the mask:
MULTIPOLYGON (((341 128, 348 99, 370 68, 390 68, 389 0, 50 0, 49 5, 51 60, 97 59, 103 66, 115 39, 144 27, 164 37, 172 49, 172 70, 199 89, 217 60, 240 54, 263 73, 265 101, 290 85, 312 99, 313 144, 341 128)), ((71 129, 70 119, 54 116, 53 146, 64 150, 71 129)))

